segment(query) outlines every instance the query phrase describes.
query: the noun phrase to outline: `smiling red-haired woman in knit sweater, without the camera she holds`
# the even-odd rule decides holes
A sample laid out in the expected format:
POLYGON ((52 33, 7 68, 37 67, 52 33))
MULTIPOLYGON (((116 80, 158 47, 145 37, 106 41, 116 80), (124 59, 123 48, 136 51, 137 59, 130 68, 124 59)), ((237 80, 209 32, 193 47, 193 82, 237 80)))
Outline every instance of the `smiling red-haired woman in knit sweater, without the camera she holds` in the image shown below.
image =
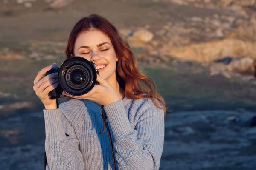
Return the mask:
POLYGON ((154 82, 139 73, 134 54, 116 28, 99 15, 82 18, 70 33, 66 55, 96 63, 99 85, 82 96, 63 92, 70 100, 57 108, 56 99, 48 97, 58 86, 57 75, 43 77, 57 65, 38 72, 33 88, 45 107, 47 169, 113 169, 108 134, 99 134, 103 129, 101 105, 111 128, 117 168, 159 169, 165 102, 154 82))

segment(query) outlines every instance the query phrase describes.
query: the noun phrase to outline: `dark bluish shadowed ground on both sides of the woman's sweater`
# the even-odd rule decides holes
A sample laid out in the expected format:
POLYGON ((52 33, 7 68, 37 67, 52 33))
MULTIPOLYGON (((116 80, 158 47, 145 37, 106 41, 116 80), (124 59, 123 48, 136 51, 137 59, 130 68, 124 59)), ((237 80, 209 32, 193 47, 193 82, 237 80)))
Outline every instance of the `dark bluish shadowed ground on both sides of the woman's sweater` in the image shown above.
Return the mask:
MULTIPOLYGON (((247 111, 180 111, 166 116, 160 170, 254 170, 256 127, 247 111)), ((2 116, 3 170, 40 170, 44 162, 42 112, 2 116)))

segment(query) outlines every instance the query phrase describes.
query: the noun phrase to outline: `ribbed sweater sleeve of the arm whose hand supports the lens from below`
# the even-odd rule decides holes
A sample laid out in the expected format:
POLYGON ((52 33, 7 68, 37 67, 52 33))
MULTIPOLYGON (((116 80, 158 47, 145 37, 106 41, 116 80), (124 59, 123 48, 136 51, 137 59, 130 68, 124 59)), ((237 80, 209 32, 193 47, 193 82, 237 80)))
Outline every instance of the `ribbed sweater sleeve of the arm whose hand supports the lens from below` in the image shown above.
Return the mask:
POLYGON ((163 152, 164 110, 157 108, 153 102, 142 103, 134 111, 140 113, 136 126, 132 127, 122 100, 104 109, 113 131, 119 169, 158 170, 163 152))

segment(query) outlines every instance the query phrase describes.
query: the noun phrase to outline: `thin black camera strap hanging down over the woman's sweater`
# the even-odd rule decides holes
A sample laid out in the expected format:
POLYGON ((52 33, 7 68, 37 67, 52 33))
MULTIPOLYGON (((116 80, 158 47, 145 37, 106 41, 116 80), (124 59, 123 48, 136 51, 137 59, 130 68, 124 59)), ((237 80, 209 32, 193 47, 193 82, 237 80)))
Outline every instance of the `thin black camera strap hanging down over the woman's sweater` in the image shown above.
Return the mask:
MULTIPOLYGON (((57 104, 57 108, 59 108, 58 105, 58 98, 56 98, 56 104, 57 104)), ((102 105, 102 119, 103 119, 103 130, 102 132, 100 132, 99 134, 102 134, 105 132, 105 127, 107 127, 107 131, 108 131, 108 139, 109 139, 109 143, 110 143, 110 147, 111 147, 111 153, 112 153, 112 160, 113 160, 113 170, 116 170, 116 163, 115 163, 115 156, 114 156, 114 149, 113 149, 113 142, 112 142, 112 138, 111 138, 111 133, 110 133, 110 129, 108 126, 108 119, 107 119, 107 115, 106 112, 103 108, 104 106, 102 105)), ((68 136, 66 134, 66 136, 68 136)), ((46 152, 44 151, 44 170, 46 170, 46 165, 47 165, 47 159, 46 159, 46 152)))

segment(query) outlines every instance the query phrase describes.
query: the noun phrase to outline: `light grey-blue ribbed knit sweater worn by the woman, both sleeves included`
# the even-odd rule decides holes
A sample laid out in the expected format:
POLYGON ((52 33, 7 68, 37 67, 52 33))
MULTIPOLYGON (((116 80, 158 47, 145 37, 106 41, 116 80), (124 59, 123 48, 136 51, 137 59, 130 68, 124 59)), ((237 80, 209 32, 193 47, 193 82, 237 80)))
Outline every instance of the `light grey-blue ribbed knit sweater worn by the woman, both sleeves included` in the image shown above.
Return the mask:
MULTIPOLYGON (((164 110, 152 99, 128 99, 104 107, 119 170, 157 170, 163 152, 164 110)), ((49 170, 111 170, 113 162, 101 107, 71 99, 45 110, 49 170), (67 133, 69 136, 65 135, 67 133)))

